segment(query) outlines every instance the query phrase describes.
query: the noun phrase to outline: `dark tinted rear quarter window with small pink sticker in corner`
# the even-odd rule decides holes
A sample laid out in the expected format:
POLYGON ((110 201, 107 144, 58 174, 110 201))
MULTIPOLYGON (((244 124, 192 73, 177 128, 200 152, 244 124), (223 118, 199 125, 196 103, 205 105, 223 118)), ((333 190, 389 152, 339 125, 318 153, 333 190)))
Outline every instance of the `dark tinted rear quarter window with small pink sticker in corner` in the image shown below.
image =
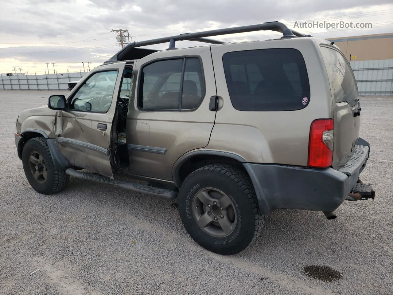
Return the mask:
POLYGON ((306 65, 296 49, 228 52, 222 62, 232 105, 239 111, 294 111, 310 101, 306 65))

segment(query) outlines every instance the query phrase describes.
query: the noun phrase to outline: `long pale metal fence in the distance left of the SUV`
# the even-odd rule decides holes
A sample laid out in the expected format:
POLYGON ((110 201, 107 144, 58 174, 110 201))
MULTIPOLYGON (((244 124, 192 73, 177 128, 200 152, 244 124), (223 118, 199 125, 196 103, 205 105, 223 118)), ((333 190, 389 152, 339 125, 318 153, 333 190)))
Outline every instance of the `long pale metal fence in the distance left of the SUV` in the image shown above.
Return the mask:
POLYGON ((0 76, 0 90, 67 90, 68 82, 78 81, 87 72, 48 75, 0 76))

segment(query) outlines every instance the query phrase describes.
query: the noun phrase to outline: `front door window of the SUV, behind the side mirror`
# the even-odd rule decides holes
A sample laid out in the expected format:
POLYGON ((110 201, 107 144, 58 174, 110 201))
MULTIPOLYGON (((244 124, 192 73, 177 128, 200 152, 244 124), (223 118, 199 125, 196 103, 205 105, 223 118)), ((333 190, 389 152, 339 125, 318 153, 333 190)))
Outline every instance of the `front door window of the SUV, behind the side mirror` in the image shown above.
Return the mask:
POLYGON ((88 78, 73 95, 70 109, 79 111, 106 112, 112 103, 118 71, 98 72, 88 78), (106 77, 112 77, 108 81, 106 77))

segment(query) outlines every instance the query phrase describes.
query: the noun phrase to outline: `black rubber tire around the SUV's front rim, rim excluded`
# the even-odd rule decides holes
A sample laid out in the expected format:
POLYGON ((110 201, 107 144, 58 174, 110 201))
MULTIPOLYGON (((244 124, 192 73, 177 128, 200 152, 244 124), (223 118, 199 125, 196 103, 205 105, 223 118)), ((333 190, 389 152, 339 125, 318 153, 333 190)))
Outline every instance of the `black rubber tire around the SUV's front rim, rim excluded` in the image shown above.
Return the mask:
POLYGON ((50 195, 61 191, 70 176, 65 171, 57 169, 53 165, 48 144, 44 137, 35 137, 26 142, 22 151, 23 170, 31 187, 40 194, 50 195), (48 178, 44 183, 38 183, 29 168, 29 157, 33 151, 37 151, 45 160, 48 178))

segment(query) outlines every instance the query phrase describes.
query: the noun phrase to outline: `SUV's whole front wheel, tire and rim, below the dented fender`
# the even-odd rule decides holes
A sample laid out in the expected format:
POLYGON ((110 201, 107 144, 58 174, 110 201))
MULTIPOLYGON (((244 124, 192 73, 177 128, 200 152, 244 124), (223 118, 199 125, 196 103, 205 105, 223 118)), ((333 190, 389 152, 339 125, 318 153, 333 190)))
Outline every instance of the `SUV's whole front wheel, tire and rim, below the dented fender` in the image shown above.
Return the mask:
POLYGON ((36 137, 26 142, 22 152, 23 169, 31 187, 41 194, 59 192, 66 185, 69 175, 53 165, 46 140, 36 137))

